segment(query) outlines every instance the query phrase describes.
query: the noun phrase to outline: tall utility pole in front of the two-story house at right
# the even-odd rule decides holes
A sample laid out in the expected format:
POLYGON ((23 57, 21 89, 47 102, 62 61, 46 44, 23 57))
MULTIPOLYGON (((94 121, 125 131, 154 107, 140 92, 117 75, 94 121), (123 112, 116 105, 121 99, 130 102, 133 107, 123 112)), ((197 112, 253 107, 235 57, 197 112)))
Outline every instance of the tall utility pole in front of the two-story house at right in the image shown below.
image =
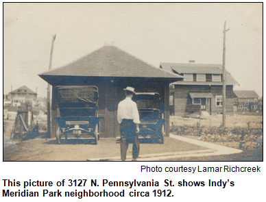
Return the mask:
POLYGON ((226 127, 226 21, 223 25, 223 127, 226 127))

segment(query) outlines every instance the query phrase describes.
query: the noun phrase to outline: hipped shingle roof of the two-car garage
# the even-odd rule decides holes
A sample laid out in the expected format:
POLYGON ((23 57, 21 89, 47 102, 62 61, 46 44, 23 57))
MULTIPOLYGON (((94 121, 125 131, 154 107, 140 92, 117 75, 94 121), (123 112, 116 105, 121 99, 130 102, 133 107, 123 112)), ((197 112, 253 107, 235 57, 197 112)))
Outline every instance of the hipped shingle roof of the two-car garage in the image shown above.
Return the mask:
POLYGON ((60 68, 41 73, 57 76, 85 76, 85 77, 155 77, 155 78, 183 78, 180 75, 156 68, 147 62, 122 51, 114 46, 104 46, 93 53, 71 62, 60 68))

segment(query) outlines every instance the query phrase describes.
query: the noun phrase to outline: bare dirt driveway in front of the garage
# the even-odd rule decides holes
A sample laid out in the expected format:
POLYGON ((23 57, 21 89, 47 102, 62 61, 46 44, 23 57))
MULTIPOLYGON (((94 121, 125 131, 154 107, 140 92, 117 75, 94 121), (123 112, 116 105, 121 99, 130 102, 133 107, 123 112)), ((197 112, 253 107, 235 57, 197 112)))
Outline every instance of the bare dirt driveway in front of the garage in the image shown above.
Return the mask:
MULTIPOLYGON (((165 138, 165 144, 151 144, 140 140, 140 155, 152 153, 171 153, 207 149, 172 138, 165 138)), ((132 144, 128 147, 128 155, 132 157, 132 144)), ((4 161, 86 161, 93 158, 120 156, 120 144, 117 138, 100 138, 98 144, 88 139, 56 139, 35 138, 9 144, 3 151, 4 161)))

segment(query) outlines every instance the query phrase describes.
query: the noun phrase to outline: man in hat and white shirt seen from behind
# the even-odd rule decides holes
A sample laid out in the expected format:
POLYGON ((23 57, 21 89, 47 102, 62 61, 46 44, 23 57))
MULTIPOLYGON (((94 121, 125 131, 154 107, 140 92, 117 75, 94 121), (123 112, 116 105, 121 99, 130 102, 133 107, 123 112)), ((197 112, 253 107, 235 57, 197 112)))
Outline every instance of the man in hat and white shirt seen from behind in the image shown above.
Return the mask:
POLYGON ((139 140, 138 140, 138 123, 139 114, 136 103, 132 101, 134 88, 127 87, 125 90, 125 99, 121 101, 117 108, 117 121, 120 123, 121 134, 121 160, 125 161, 128 150, 128 144, 133 143, 133 160, 136 161, 139 153, 139 140))

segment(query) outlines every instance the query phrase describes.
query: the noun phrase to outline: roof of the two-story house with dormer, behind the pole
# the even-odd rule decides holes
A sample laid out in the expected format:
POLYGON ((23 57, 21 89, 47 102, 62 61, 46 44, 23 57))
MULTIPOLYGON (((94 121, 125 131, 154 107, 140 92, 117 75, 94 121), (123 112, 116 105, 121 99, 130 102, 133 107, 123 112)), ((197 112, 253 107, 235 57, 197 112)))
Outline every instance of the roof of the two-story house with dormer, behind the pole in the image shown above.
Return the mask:
MULTIPOLYGON (((169 62, 161 62, 160 68, 165 69, 171 73, 177 74, 186 74, 186 73, 202 73, 202 74, 222 74, 223 66, 221 64, 195 64, 195 63, 169 63, 169 62)), ((193 84, 204 84, 204 85, 221 85, 222 82, 198 82, 198 81, 178 81, 176 84, 184 84, 184 85, 193 85, 193 84), (208 82, 208 84, 207 84, 208 82)), ((236 85, 237 81, 230 75, 230 73, 226 70, 226 84, 227 85, 236 85)))

